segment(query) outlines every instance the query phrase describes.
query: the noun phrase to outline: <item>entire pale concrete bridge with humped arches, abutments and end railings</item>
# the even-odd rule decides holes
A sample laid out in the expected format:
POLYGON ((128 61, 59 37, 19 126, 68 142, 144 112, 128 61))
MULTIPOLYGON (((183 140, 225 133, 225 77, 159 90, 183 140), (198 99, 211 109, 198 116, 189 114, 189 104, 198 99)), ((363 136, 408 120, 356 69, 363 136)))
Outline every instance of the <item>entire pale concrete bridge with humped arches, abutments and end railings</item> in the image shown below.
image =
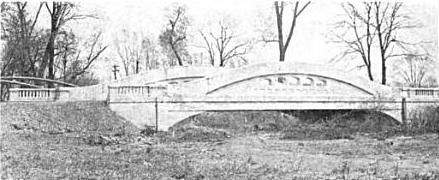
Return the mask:
MULTIPOLYGON (((31 90, 11 89, 10 100, 35 100, 23 93, 31 90)), ((154 70, 60 92, 57 101, 106 100, 135 125, 160 130, 205 111, 375 110, 405 123, 412 112, 439 105, 439 89, 393 88, 327 65, 288 62, 154 70)), ((39 100, 53 98, 46 93, 39 100)))

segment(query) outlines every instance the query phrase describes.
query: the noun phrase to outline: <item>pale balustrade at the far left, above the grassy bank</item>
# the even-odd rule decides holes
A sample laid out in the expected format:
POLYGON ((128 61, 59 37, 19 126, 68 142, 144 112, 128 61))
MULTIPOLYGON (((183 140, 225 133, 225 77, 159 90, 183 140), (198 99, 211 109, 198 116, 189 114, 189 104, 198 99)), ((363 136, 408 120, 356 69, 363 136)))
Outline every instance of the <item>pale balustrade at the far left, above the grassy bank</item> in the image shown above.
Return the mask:
POLYGON ((9 101, 57 101, 69 98, 69 91, 54 88, 13 88, 9 93, 9 101))

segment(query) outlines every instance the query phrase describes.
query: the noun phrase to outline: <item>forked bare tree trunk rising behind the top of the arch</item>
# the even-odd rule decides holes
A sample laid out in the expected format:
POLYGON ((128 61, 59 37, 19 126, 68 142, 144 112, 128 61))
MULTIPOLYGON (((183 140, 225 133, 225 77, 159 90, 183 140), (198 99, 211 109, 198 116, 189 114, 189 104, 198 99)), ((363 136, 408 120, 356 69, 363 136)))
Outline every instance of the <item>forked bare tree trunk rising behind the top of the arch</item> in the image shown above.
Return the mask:
POLYGON ((284 41, 283 14, 284 14, 284 8, 285 8, 286 3, 283 1, 281 1, 281 2, 275 1, 274 2, 274 9, 276 12, 278 38, 276 40, 271 40, 271 41, 276 41, 279 44, 279 61, 281 61, 281 62, 285 61, 285 54, 287 52, 288 45, 290 44, 291 38, 293 36, 294 29, 296 28, 297 19, 302 14, 302 12, 306 9, 306 7, 308 7, 308 5, 310 3, 311 2, 308 1, 302 7, 299 7, 298 1, 296 1, 294 3, 294 10, 293 10, 291 26, 290 26, 290 29, 288 32, 287 39, 284 41))

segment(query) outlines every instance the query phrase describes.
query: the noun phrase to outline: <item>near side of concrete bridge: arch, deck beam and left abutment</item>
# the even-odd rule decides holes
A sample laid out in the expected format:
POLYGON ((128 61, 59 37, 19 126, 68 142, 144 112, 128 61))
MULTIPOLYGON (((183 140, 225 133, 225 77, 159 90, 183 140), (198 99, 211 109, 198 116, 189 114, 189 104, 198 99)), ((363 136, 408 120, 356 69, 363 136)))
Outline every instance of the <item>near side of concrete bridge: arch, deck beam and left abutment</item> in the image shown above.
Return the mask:
MULTIPOLYGON (((163 79, 163 82, 177 80, 170 76, 163 79)), ((170 86, 159 100, 127 96, 127 99, 110 101, 109 104, 122 116, 139 123, 139 127, 142 124, 157 125, 155 118, 158 117, 157 126, 166 130, 205 111, 367 109, 399 120, 401 102, 397 98, 400 98, 397 89, 344 70, 282 62, 224 70, 170 86), (379 107, 382 109, 377 109, 379 107), (133 114, 133 111, 144 115, 133 114), (151 116, 153 114, 157 116, 151 116)))

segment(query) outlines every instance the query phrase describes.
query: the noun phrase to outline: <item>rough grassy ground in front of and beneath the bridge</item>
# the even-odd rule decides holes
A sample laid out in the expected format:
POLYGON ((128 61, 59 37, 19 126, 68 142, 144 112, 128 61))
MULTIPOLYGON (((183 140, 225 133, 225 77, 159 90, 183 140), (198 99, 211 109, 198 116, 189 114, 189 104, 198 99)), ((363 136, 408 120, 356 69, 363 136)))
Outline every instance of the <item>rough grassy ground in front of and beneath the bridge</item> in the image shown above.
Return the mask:
POLYGON ((208 112, 146 136, 103 102, 0 105, 1 179, 439 176, 439 135, 377 138, 395 124, 370 112, 208 112))

